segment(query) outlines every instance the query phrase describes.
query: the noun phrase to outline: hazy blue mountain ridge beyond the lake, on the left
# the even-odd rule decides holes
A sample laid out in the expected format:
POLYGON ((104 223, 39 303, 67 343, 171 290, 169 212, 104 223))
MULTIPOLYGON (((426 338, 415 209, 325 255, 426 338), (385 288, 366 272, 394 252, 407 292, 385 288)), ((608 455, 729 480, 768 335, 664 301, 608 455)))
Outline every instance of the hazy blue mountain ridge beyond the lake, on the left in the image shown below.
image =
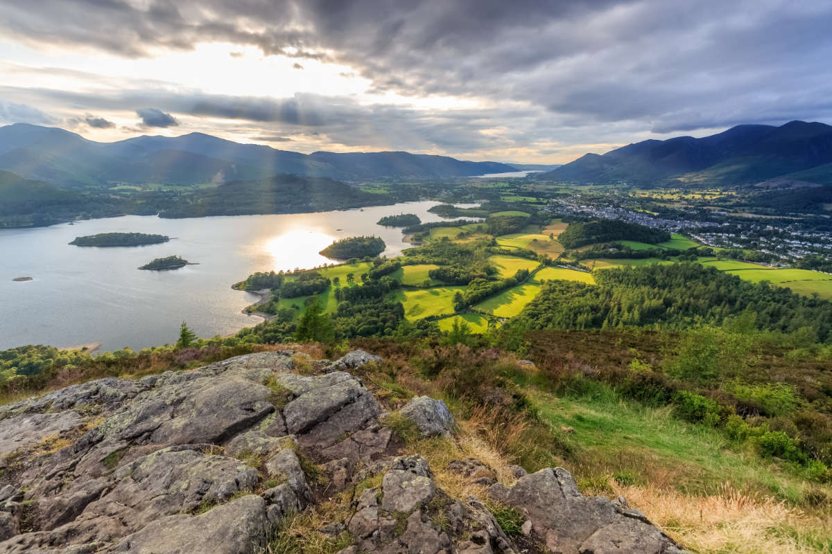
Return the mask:
POLYGON ((0 127, 0 169, 62 188, 112 183, 220 184, 277 174, 349 181, 464 177, 516 170, 498 162, 409 152, 301 154, 202 133, 145 135, 100 143, 67 130, 19 123, 0 127))

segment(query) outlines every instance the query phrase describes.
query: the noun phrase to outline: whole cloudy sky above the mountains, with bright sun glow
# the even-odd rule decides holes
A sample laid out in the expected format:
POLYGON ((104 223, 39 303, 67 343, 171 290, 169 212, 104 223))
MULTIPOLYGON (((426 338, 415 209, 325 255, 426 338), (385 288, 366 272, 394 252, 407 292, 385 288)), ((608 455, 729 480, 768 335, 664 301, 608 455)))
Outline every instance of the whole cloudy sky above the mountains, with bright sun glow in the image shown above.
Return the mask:
POLYGON ((832 123, 829 0, 0 0, 0 125, 562 164, 832 123))

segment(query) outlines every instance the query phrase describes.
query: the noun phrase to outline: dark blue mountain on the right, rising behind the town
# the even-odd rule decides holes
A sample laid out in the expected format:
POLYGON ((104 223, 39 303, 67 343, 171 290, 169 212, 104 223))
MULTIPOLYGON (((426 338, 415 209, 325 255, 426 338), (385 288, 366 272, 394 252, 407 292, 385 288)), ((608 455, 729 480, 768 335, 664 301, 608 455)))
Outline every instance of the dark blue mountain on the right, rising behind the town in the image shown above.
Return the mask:
POLYGON ((534 179, 586 183, 756 184, 785 178, 832 184, 832 126, 737 125, 717 135, 644 140, 585 154, 534 179))

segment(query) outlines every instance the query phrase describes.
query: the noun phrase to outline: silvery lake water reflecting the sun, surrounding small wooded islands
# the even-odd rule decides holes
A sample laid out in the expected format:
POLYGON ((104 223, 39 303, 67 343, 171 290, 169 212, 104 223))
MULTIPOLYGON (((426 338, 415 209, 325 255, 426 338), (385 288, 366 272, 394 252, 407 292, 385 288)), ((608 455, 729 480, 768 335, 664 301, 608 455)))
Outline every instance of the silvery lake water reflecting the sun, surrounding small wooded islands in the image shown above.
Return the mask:
POLYGON ((235 282, 253 272, 331 263, 319 250, 360 234, 383 238, 384 255, 396 256, 409 246, 401 230, 375 222, 394 213, 441 221, 428 213, 436 204, 187 219, 131 215, 0 230, 0 350, 91 342, 101 342, 102 351, 138 350, 175 342, 182 321, 203 337, 254 326, 260 317, 241 311, 259 297, 232 290, 235 282), (128 248, 67 244, 77 236, 113 232, 158 233, 171 241, 128 248), (136 269, 172 255, 199 265, 169 272, 136 269), (33 280, 12 282, 15 277, 33 280))

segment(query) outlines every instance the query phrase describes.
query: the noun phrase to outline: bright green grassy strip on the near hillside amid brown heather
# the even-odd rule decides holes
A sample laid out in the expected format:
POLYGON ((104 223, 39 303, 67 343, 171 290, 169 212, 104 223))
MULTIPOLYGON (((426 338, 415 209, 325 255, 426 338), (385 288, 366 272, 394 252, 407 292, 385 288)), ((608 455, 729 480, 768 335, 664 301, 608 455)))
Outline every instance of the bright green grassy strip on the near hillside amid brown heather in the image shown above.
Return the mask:
POLYGON ((732 482, 795 499, 806 488, 801 479, 727 449, 718 430, 672 417, 670 406, 650 408, 622 400, 601 384, 584 395, 557 398, 530 387, 523 390, 555 429, 575 429, 569 439, 578 447, 572 463, 581 465, 584 474, 626 474, 636 483, 661 475, 683 493, 714 494, 732 482))

